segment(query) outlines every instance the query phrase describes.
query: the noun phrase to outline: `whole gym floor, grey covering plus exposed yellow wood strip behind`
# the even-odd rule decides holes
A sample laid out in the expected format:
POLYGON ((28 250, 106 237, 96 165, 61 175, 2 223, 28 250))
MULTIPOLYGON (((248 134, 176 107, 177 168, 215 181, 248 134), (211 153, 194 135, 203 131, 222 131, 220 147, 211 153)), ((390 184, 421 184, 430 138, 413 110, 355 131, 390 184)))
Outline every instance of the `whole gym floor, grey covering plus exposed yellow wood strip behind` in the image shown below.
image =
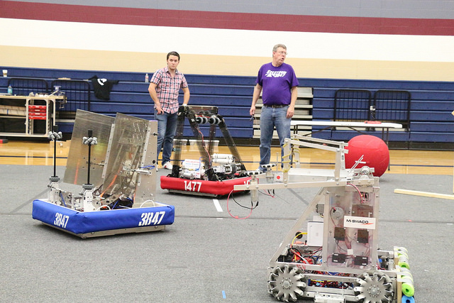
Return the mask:
MULTIPOLYGON (((57 175, 65 173, 67 150, 57 148, 57 175)), ((238 150, 255 170, 258 147, 238 150)), ((192 155, 188 146, 182 158, 192 155)), ((267 294, 270 258, 319 190, 260 194, 248 219, 233 219, 249 211, 232 197, 170 194, 157 181, 157 202, 175 206, 165 231, 81 239, 31 217, 33 200, 46 197, 52 156, 49 143, 0 145, 0 302, 277 302, 267 294)), ((304 149, 301 162, 329 169, 334 158, 304 149)), ((380 177, 378 244, 408 249, 416 302, 451 302, 454 295, 454 202, 435 195, 453 194, 453 162, 453 151, 390 150, 390 170, 380 177)), ((250 203, 248 194, 235 199, 250 203)))

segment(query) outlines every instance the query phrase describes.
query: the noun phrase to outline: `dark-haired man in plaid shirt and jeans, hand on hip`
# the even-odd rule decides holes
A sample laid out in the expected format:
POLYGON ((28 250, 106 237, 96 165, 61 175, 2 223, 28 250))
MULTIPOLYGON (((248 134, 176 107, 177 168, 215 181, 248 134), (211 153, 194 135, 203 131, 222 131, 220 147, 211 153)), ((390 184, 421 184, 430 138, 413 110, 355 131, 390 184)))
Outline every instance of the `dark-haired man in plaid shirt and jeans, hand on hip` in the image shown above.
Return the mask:
POLYGON ((150 80, 148 92, 155 102, 155 119, 157 120, 157 153, 162 148, 162 167, 172 170, 170 155, 172 155, 173 138, 177 131, 178 94, 182 89, 183 105, 189 102, 189 88, 186 78, 177 70, 179 54, 167 54, 167 67, 157 70, 150 80))

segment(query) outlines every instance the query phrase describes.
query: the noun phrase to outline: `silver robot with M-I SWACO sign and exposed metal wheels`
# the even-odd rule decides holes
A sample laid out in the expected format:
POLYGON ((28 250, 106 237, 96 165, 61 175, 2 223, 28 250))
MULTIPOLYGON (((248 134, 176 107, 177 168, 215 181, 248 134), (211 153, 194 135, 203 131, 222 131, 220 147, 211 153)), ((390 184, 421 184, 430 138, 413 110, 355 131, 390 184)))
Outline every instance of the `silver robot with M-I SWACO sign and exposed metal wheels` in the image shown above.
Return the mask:
POLYGON ((258 202, 259 189, 321 187, 272 256, 268 292, 283 302, 414 302, 407 250, 377 249, 380 187, 373 168, 345 170, 347 143, 293 138, 284 144, 281 183, 271 183, 268 170, 267 183, 259 184, 260 175, 250 172, 250 184, 235 187, 250 190, 253 203, 258 202), (299 146, 335 152, 335 169, 299 168, 299 146))

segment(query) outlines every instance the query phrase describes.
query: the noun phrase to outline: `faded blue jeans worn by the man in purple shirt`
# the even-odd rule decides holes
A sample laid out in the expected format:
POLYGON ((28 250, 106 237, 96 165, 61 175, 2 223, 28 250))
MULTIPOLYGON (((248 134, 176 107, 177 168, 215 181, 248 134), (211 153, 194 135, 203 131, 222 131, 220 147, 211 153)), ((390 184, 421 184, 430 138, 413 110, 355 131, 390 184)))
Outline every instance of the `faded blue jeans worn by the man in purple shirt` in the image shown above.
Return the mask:
MULTIPOLYGON (((270 163, 271 158, 271 140, 272 133, 276 127, 277 136, 281 145, 281 160, 284 151, 285 138, 290 138, 290 122, 291 118, 287 118, 287 109, 289 106, 272 107, 262 106, 262 113, 260 114, 260 165, 270 163)), ((259 167, 260 170, 262 169, 259 167)))

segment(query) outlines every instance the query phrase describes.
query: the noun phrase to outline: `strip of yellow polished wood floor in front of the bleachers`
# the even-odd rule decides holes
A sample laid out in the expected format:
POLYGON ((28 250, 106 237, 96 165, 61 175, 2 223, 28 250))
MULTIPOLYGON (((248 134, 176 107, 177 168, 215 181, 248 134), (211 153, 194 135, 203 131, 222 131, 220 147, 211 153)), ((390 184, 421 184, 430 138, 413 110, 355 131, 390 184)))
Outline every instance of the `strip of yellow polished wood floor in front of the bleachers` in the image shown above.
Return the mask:
MULTIPOLYGON (((57 147, 57 165, 66 165, 70 141, 57 147)), ((258 146, 237 146, 248 170, 258 168, 260 154, 258 146)), ((53 165, 53 143, 9 141, 0 144, 0 165, 53 165)), ((230 153, 226 146, 218 146, 214 153, 230 153)), ((272 162, 279 159, 280 149, 272 148, 272 162)), ((301 167, 334 167, 334 153, 314 148, 301 148, 301 167)), ((182 160, 198 159, 196 146, 187 145, 182 150, 182 160)), ((391 174, 453 175, 454 151, 446 150, 389 150, 391 174)))

